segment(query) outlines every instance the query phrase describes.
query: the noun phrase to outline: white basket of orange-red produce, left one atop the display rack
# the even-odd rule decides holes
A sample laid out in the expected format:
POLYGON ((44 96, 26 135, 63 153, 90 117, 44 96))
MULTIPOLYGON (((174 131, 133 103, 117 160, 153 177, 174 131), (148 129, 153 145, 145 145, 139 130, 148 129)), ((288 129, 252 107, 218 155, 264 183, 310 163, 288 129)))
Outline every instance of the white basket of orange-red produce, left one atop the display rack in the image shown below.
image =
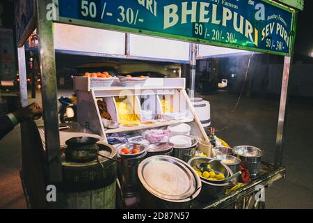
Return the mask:
POLYGON ((111 86, 114 79, 109 72, 86 72, 83 77, 90 77, 90 88, 111 86))

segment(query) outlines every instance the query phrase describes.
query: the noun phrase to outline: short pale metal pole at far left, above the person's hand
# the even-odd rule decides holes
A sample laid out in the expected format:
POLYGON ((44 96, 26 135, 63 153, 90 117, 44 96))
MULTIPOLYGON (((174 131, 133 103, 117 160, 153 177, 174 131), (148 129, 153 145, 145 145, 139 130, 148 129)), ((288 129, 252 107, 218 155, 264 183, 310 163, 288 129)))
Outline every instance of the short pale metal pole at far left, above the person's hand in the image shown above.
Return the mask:
POLYGON ((21 99, 22 107, 29 105, 27 95, 27 77, 26 77, 26 60, 25 48, 17 47, 17 59, 19 62, 19 97, 21 99))

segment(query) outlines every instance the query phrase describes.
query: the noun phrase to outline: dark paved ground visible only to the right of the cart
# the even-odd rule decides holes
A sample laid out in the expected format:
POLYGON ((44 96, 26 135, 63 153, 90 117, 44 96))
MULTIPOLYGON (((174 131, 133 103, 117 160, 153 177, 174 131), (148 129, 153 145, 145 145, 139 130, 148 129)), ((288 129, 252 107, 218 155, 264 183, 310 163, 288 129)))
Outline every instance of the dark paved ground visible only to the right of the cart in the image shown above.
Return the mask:
MULTIPOLYGON (((231 146, 251 145, 265 151, 263 159, 274 162, 279 100, 241 98, 219 92, 207 95, 211 103, 211 125, 231 146)), ((313 208, 313 100, 289 100, 284 134, 287 178, 266 190, 267 208, 313 208)))

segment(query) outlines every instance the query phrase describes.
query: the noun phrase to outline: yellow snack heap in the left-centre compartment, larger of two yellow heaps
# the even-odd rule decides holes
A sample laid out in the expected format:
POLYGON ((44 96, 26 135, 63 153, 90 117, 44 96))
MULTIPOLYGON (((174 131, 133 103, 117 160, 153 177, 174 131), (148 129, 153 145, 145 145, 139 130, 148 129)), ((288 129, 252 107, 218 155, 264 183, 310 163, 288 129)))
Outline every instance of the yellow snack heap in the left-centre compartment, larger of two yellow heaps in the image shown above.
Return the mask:
POLYGON ((115 98, 118 109, 118 120, 122 125, 140 123, 140 118, 135 114, 134 108, 124 98, 115 98))

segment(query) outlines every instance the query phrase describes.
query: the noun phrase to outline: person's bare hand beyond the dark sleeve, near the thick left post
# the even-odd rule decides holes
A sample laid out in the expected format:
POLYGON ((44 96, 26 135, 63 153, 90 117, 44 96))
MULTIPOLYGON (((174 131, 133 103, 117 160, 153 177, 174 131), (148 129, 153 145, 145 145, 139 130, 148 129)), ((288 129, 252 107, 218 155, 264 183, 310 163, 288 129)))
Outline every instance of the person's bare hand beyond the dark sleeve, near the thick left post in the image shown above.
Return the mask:
POLYGON ((38 103, 19 109, 17 112, 13 112, 19 123, 26 121, 27 119, 37 120, 42 116, 42 108, 38 103))

